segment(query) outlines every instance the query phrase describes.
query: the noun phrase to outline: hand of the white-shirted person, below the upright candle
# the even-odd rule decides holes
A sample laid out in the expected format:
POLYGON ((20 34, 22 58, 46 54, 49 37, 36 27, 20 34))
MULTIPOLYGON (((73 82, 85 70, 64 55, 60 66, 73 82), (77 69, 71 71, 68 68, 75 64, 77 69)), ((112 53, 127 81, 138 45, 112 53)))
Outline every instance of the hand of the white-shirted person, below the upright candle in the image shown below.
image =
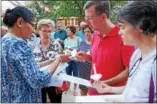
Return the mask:
POLYGON ((92 87, 95 88, 99 93, 109 93, 112 87, 105 84, 103 81, 94 81, 92 87))

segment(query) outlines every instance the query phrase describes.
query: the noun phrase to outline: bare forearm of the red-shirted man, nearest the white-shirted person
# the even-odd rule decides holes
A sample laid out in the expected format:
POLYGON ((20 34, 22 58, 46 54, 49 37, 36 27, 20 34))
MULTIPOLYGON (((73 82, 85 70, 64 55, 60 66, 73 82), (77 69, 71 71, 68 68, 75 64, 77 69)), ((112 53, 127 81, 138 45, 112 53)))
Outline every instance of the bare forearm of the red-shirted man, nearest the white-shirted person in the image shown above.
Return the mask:
POLYGON ((128 73, 129 73, 129 70, 125 69, 121 73, 119 73, 117 76, 110 78, 108 80, 105 80, 104 82, 110 86, 115 85, 120 82, 124 82, 128 78, 128 73))

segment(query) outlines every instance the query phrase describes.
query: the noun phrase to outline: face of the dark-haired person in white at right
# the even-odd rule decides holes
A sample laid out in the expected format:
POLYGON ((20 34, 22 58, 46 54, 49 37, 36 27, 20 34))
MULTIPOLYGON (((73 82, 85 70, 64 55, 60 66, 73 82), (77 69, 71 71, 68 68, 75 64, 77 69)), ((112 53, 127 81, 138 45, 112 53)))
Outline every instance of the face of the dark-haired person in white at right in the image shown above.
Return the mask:
POLYGON ((126 21, 118 22, 120 27, 119 34, 125 45, 135 45, 140 39, 141 32, 126 21))

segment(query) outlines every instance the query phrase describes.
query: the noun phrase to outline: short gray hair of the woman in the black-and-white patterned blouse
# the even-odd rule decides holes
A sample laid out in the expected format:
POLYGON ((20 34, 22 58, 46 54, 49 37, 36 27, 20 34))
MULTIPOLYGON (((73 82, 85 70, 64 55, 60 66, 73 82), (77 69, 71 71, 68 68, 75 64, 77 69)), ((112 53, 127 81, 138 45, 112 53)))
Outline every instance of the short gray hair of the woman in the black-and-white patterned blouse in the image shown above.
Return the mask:
POLYGON ((37 29, 40 29, 43 25, 51 25, 52 27, 55 27, 55 22, 51 19, 41 19, 37 24, 37 29))

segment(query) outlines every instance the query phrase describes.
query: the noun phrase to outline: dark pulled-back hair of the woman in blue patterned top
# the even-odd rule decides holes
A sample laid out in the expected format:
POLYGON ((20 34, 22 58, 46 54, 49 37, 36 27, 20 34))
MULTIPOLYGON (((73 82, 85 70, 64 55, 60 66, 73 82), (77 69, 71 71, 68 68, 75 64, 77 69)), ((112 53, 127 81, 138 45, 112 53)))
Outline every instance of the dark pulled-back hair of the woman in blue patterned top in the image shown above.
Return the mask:
POLYGON ((29 9, 18 6, 14 9, 6 10, 3 23, 8 27, 12 27, 19 17, 22 17, 25 22, 31 22, 34 20, 34 14, 29 9))

